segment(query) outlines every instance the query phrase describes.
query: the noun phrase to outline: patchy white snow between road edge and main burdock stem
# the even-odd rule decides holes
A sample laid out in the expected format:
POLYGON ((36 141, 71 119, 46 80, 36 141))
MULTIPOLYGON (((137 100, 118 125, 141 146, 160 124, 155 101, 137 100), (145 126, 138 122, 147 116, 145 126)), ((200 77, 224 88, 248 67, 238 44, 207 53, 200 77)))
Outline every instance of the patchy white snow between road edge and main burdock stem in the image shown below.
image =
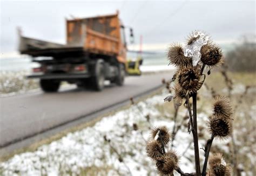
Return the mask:
MULTIPOLYGON (((150 128, 166 125, 172 129, 171 118, 162 117, 156 105, 163 104, 163 92, 129 109, 104 117, 94 126, 68 133, 49 145, 39 147, 35 152, 17 154, 0 164, 3 175, 79 175, 86 168, 98 170, 108 166, 109 175, 156 175, 153 161, 146 156, 146 140, 150 128), (150 114, 150 122, 145 116, 150 114), (137 124, 138 130, 133 129, 137 124), (104 136, 110 142, 106 142, 104 136), (121 157, 121 158, 120 158, 121 157), (123 162, 120 162, 123 159, 123 162)), ((181 112, 185 114, 186 111, 181 112)), ((169 114, 169 116, 172 116, 169 114)), ((201 114, 201 116, 205 116, 201 114)), ((177 133, 174 145, 182 154, 192 140, 186 130, 177 133)), ((192 172, 192 145, 180 160, 184 172, 192 172)))

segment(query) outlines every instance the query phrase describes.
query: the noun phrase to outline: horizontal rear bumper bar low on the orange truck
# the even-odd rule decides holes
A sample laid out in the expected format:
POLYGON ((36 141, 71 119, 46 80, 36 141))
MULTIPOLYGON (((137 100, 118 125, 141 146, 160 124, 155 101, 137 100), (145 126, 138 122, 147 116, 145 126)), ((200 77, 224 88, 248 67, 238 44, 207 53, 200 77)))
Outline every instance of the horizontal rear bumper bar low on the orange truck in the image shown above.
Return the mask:
POLYGON ((70 73, 70 74, 33 74, 26 76, 29 79, 39 78, 39 79, 60 79, 60 80, 67 80, 67 79, 83 79, 89 78, 90 75, 87 73, 78 74, 78 73, 70 73))

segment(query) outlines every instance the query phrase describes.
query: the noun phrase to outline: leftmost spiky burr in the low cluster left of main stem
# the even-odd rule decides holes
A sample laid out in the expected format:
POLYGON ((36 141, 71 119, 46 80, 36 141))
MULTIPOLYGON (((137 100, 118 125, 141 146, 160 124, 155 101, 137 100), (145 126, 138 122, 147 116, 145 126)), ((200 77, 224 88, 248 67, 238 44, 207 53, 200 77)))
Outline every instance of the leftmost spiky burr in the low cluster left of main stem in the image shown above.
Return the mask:
POLYGON ((160 156, 162 156, 161 144, 157 140, 151 140, 150 142, 147 142, 146 152, 147 156, 152 159, 159 158, 160 156))

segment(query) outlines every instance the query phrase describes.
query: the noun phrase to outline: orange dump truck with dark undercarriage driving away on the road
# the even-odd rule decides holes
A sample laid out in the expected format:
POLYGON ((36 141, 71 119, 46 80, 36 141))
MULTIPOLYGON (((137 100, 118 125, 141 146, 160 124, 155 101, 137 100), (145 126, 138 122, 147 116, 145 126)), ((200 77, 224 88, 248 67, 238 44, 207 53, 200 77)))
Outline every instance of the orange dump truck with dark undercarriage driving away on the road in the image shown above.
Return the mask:
POLYGON ((40 67, 28 78, 40 79, 42 90, 57 91, 61 81, 79 87, 104 88, 104 80, 122 86, 126 74, 125 27, 114 15, 66 20, 66 45, 23 37, 19 52, 40 67))

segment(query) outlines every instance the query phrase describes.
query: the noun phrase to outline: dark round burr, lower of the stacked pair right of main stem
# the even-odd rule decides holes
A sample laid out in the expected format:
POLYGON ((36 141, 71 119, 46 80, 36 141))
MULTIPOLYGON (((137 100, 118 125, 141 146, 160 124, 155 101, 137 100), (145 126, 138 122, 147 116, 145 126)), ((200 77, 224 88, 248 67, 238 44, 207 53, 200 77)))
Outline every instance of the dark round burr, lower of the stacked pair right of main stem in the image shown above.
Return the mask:
POLYGON ((210 117, 210 131, 214 137, 226 138, 231 135, 232 123, 230 119, 212 115, 210 117))

